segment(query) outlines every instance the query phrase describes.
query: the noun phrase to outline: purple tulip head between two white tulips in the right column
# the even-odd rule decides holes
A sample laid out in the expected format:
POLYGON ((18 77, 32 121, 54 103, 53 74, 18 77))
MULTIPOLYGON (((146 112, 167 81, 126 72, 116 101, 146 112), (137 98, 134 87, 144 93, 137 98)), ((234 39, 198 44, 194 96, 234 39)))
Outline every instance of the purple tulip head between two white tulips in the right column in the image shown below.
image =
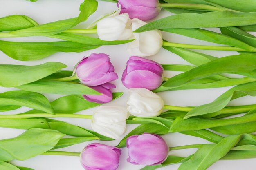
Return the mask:
POLYGON ((152 60, 132 56, 126 63, 122 83, 126 88, 153 90, 163 82, 163 67, 152 60))

